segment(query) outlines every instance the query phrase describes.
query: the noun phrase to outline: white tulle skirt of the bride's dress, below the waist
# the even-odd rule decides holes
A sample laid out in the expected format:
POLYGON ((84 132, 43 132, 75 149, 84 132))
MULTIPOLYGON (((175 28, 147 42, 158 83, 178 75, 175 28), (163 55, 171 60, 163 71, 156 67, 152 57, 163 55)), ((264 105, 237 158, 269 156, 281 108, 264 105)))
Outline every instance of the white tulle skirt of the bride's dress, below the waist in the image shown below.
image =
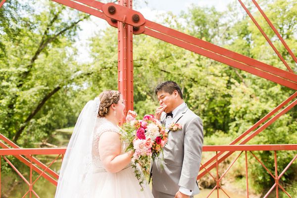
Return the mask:
POLYGON ((83 197, 87 198, 153 198, 148 184, 143 184, 141 191, 139 181, 132 167, 117 173, 98 172, 88 176, 88 186, 83 197))

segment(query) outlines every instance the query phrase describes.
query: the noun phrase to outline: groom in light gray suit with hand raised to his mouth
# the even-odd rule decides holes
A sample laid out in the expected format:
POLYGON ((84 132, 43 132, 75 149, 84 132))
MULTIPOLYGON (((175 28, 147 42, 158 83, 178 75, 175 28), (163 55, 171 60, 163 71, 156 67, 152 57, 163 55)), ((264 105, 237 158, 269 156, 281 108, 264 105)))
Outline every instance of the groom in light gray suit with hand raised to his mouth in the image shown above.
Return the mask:
POLYGON ((151 167, 152 194, 154 198, 193 198, 199 193, 196 178, 203 144, 202 121, 188 108, 175 82, 159 84, 155 93, 160 103, 155 117, 165 125, 168 143, 163 148, 164 161, 155 160, 151 167), (180 124, 181 129, 177 130, 179 125, 170 127, 172 124, 180 124))

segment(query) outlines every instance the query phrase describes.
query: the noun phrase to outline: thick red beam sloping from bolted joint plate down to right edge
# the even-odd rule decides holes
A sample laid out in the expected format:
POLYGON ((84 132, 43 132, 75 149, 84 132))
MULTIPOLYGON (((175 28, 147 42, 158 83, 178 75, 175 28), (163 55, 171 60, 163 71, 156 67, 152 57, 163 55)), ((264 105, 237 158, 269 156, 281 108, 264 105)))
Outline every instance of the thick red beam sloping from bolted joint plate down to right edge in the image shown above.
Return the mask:
POLYGON ((102 6, 103 12, 107 17, 113 17, 114 19, 116 19, 118 21, 125 20, 126 23, 128 23, 130 25, 139 26, 139 24, 131 22, 131 18, 128 17, 134 13, 134 14, 139 14, 139 16, 141 18, 140 21, 145 21, 145 24, 141 25, 141 26, 145 26, 146 28, 139 30, 142 32, 134 31, 135 34, 139 34, 139 33, 147 34, 154 38, 166 41, 173 45, 177 45, 184 49, 194 51, 196 53, 199 53, 199 54, 209 57, 211 59, 217 60, 219 62, 223 62, 225 64, 228 64, 228 65, 236 67, 236 68, 240 68, 240 69, 245 70, 245 71, 252 73, 254 75, 260 76, 262 78, 266 78, 267 80, 270 80, 270 81, 279 83, 281 85, 290 87, 291 89, 297 90, 297 83, 296 83, 297 75, 294 73, 284 71, 282 69, 262 63, 260 61, 254 60, 247 56, 244 56, 242 54, 233 52, 228 49, 221 48, 219 46, 199 40, 199 39, 189 36, 187 34, 184 34, 184 33, 178 32, 176 30, 162 26, 160 24, 151 22, 149 20, 146 20, 142 15, 140 15, 139 12, 136 12, 134 10, 129 10, 129 8, 120 8, 119 5, 115 6, 118 9, 116 9, 115 14, 111 15, 108 12, 106 12, 107 7, 111 6, 111 5, 115 5, 115 4, 107 3, 102 6), (129 15, 127 15, 127 13, 129 13, 129 15), (125 16, 125 17, 123 18, 123 16, 125 16), (199 47, 199 48, 197 49, 197 47, 199 47), (201 51, 202 48, 204 51, 201 51), (212 54, 209 55, 210 53, 212 53, 212 54), (214 58, 214 56, 216 56, 216 57, 214 58), (236 60, 236 61, 234 61, 234 60, 236 60), (247 65, 249 65, 251 67, 248 68, 247 65), (293 82, 291 82, 291 81, 293 81, 293 82))

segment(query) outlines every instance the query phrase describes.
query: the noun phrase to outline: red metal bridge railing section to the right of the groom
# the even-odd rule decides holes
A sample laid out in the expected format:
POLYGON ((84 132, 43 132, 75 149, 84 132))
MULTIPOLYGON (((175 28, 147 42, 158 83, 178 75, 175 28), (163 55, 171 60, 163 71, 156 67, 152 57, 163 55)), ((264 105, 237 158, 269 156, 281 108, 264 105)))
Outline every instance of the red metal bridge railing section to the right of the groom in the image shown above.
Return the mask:
MULTIPOLYGON (((283 170, 279 170, 278 169, 278 162, 277 162, 277 153, 279 151, 285 151, 285 150, 293 150, 294 152, 297 151, 297 144, 294 145, 218 145, 218 146, 204 146, 203 147, 203 153, 204 155, 206 154, 205 152, 210 152, 213 151, 215 152, 215 156, 216 159, 213 162, 213 164, 207 164, 206 166, 201 163, 201 167, 203 170, 200 169, 200 173, 202 171, 206 171, 211 178, 213 178, 213 180, 215 181, 216 185, 215 187, 211 190, 211 192, 207 195, 206 198, 210 197, 211 194, 215 193, 217 194, 217 198, 219 198, 219 191, 221 190, 223 192, 223 194, 225 194, 225 196, 229 197, 227 191, 222 187, 221 185, 221 181, 222 179, 226 176, 226 174, 228 173, 228 171, 231 169, 231 167, 234 165, 234 163, 239 159, 239 157, 241 155, 245 156, 245 167, 246 167, 246 196, 247 198, 249 197, 249 183, 248 183, 248 167, 250 165, 249 159, 247 154, 250 154, 251 157, 255 158, 255 160, 261 164, 261 166, 267 171, 267 174, 269 174, 273 179, 274 179, 274 184, 273 186, 268 190, 268 192, 264 195, 263 198, 267 198, 271 192, 275 189, 275 193, 276 193, 276 198, 279 198, 279 192, 283 191, 289 198, 292 198, 292 196, 285 190, 285 188, 281 185, 280 180, 281 177, 285 174, 285 172, 290 168, 290 166, 293 164, 293 162, 296 160, 297 158, 297 152, 296 155, 292 158, 292 160, 287 164, 287 166, 283 169, 283 170), (263 150, 269 150, 272 151, 274 153, 274 171, 270 171, 266 166, 265 163, 263 163, 259 157, 257 157, 253 151, 263 151, 263 150), (237 155, 234 157, 233 161, 229 164, 229 166, 223 170, 222 174, 219 174, 219 163, 221 162, 218 152, 236 152, 239 151, 239 154, 236 153, 237 155), (207 168, 207 166, 215 166, 215 171, 210 171, 209 168, 207 168), (281 172, 280 172, 281 171, 281 172), (274 172, 274 173, 272 173, 274 172)), ((203 154, 202 154, 203 156, 203 154)), ((267 164, 266 164, 267 165, 267 164)), ((221 172, 221 170, 220 170, 221 172)), ((198 178, 199 175, 198 175, 198 178)))

